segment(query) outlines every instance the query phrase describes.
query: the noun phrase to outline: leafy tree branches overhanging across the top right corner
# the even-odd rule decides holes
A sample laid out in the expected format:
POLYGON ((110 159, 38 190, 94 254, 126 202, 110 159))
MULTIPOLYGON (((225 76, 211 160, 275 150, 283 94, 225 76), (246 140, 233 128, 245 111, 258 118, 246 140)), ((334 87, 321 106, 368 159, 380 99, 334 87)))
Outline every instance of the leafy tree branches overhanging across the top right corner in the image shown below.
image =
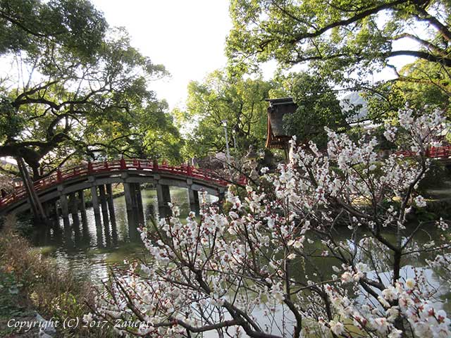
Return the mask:
POLYGON ((338 81, 362 82, 395 56, 447 69, 450 11, 440 0, 233 0, 227 51, 235 70, 309 62, 338 81))

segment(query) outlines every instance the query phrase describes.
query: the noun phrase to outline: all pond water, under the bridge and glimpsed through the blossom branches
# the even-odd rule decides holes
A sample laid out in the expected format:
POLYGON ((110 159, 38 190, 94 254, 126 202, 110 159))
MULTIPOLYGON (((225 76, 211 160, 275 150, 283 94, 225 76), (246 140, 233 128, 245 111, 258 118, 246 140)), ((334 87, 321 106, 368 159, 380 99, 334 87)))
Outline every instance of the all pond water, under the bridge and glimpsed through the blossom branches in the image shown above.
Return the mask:
MULTIPOLYGON (((214 197, 212 197, 215 199, 214 197)), ((180 207, 181 218, 186 218, 189 213, 189 201, 187 189, 171 187, 171 200, 173 204, 180 207)), ((158 218, 158 203, 156 199, 156 191, 153 189, 142 190, 142 201, 144 207, 145 223, 149 223, 150 219, 158 218)), ((109 274, 109 268, 113 266, 123 266, 125 259, 132 261, 134 258, 140 258, 144 255, 144 246, 137 234, 137 225, 128 225, 127 211, 125 208, 125 198, 123 196, 114 199, 114 207, 116 210, 116 226, 110 224, 103 232, 99 233, 96 227, 94 211, 87 208, 87 225, 83 227, 74 227, 70 237, 64 236, 63 231, 54 229, 39 230, 35 233, 32 242, 41 251, 53 257, 56 263, 63 270, 70 270, 75 277, 79 279, 89 279, 94 284, 100 284, 101 280, 106 279, 109 274)), ((62 220, 59 227, 62 229, 62 220)), ((56 227, 58 228, 58 227, 56 227)), ((422 245, 431 239, 438 238, 439 234, 435 229, 430 231, 419 232, 416 242, 422 245)), ((390 234, 387 234, 390 237, 390 234)), ((346 227, 340 228, 336 232, 336 239, 346 240, 350 238, 350 230, 346 227)), ((321 244, 310 244, 311 248, 321 249, 321 244)), ((412 277, 414 268, 423 268, 425 256, 417 259, 411 258, 404 261, 404 269, 402 277, 412 277)), ((300 265, 300 263, 299 263, 300 265)), ((297 269, 296 278, 304 279, 305 273, 326 273, 331 275, 331 265, 340 265, 338 262, 331 261, 330 258, 318 258, 310 264, 306 263, 304 268, 297 269)), ((440 286, 438 276, 433 270, 424 269, 428 282, 435 286, 440 286)), ((388 276, 388 273, 386 273, 388 276)), ((447 313, 451 313, 451 292, 449 286, 442 285, 440 287, 440 303, 447 313)))

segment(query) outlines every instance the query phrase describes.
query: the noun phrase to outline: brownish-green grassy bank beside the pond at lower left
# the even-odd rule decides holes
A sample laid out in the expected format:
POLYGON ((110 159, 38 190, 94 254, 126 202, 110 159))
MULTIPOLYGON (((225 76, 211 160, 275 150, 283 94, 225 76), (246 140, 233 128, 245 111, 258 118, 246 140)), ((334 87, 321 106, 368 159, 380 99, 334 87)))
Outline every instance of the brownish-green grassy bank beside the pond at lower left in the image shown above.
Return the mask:
MULTIPOLYGON (((0 232, 0 337, 32 337, 30 332, 17 332, 8 327, 8 320, 34 320, 35 311, 46 320, 63 323, 89 313, 94 302, 94 289, 87 282, 75 280, 63 272, 50 258, 33 249, 15 230, 16 219, 8 216, 0 232), (27 319, 20 319, 27 318, 27 319)), ((62 330, 55 337, 113 337, 109 330, 84 327, 62 330)))

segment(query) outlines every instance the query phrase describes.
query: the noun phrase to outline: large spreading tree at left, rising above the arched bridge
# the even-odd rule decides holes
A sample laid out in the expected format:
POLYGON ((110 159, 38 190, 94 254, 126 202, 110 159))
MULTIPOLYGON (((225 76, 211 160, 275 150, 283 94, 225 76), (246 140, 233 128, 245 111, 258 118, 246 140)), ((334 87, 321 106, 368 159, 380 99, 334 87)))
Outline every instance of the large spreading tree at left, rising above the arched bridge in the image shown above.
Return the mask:
POLYGON ((144 154, 152 128, 178 137, 148 89, 163 66, 89 1, 1 1, 0 19, 12 70, 1 79, 0 156, 23 158, 36 178, 73 155, 144 154))

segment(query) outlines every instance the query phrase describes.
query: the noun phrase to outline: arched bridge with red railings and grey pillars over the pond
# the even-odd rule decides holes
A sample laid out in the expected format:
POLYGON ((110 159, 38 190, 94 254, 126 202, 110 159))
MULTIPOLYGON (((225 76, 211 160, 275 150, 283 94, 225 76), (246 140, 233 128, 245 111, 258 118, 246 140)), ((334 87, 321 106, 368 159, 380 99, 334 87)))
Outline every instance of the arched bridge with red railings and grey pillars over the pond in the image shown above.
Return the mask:
MULTIPOLYGON (((122 183, 127 211, 142 213, 140 184, 152 183, 156 188, 160 215, 168 215, 171 202, 169 187, 187 188, 190 207, 199 211, 199 191, 221 196, 228 182, 218 178, 210 170, 190 165, 171 166, 147 159, 121 159, 87 163, 56 172, 34 182, 34 189, 46 213, 63 216, 65 227, 69 225, 69 213, 85 212, 85 189, 90 189, 94 215, 104 221, 114 217, 111 184, 122 183)), ((30 208, 25 187, 0 199, 0 214, 25 211, 30 208)))

